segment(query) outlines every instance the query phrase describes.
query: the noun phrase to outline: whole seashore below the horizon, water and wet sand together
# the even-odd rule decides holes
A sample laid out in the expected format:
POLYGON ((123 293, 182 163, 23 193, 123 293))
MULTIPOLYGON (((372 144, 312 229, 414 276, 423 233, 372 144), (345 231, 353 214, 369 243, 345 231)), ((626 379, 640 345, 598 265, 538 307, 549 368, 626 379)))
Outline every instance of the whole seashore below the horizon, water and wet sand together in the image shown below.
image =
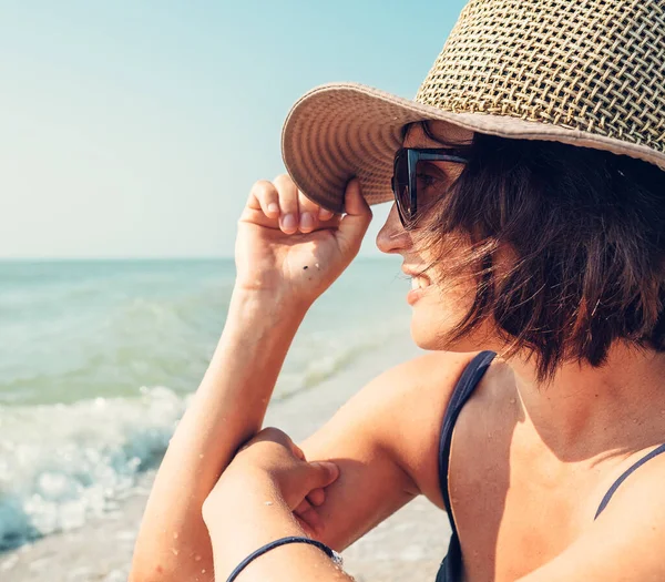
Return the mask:
MULTIPOLYGON (((265 426, 296 442, 420 350, 408 283, 358 261, 317 302, 265 426)), ((224 326, 228 261, 0 265, 0 580, 127 578, 156 467, 224 326)), ((450 530, 419 498, 348 548, 359 581, 432 581, 450 530)))

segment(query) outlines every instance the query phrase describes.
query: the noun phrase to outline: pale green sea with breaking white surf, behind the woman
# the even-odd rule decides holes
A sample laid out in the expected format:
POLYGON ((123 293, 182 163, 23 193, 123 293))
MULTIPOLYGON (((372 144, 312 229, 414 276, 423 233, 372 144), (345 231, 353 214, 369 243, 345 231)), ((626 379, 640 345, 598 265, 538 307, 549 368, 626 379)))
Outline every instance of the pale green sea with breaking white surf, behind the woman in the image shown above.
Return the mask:
MULTIPOLYGON (((274 400, 408 334, 399 267, 351 264, 308 313, 274 400)), ((234 280, 233 259, 0 262, 0 552, 103 515, 158 466, 234 280)))

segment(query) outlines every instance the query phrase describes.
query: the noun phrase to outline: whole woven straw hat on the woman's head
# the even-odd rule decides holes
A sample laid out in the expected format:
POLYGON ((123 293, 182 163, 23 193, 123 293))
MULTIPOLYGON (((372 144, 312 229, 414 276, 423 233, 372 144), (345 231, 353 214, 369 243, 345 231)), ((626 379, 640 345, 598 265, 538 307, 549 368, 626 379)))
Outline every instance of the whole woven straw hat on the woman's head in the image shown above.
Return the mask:
POLYGON ((297 186, 340 212, 357 175, 392 200, 406 123, 606 150, 665 170, 665 0, 471 0, 415 101, 355 83, 300 98, 282 135, 297 186))

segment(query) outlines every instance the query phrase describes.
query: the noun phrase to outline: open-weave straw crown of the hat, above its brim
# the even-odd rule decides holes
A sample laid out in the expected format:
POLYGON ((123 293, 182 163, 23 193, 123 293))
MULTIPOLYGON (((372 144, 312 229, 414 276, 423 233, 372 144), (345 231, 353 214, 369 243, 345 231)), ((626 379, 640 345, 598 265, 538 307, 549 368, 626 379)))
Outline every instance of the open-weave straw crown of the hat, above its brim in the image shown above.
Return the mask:
POLYGON ((416 101, 665 152, 665 0, 471 0, 416 101))

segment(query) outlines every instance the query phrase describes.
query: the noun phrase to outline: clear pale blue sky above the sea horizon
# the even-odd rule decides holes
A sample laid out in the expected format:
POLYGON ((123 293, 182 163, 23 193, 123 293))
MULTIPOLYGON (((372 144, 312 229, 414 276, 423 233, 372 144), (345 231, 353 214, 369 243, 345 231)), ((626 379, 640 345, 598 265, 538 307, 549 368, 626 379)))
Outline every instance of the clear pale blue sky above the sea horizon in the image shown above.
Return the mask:
POLYGON ((0 257, 232 255, 290 105, 413 98, 463 4, 0 0, 0 257))

